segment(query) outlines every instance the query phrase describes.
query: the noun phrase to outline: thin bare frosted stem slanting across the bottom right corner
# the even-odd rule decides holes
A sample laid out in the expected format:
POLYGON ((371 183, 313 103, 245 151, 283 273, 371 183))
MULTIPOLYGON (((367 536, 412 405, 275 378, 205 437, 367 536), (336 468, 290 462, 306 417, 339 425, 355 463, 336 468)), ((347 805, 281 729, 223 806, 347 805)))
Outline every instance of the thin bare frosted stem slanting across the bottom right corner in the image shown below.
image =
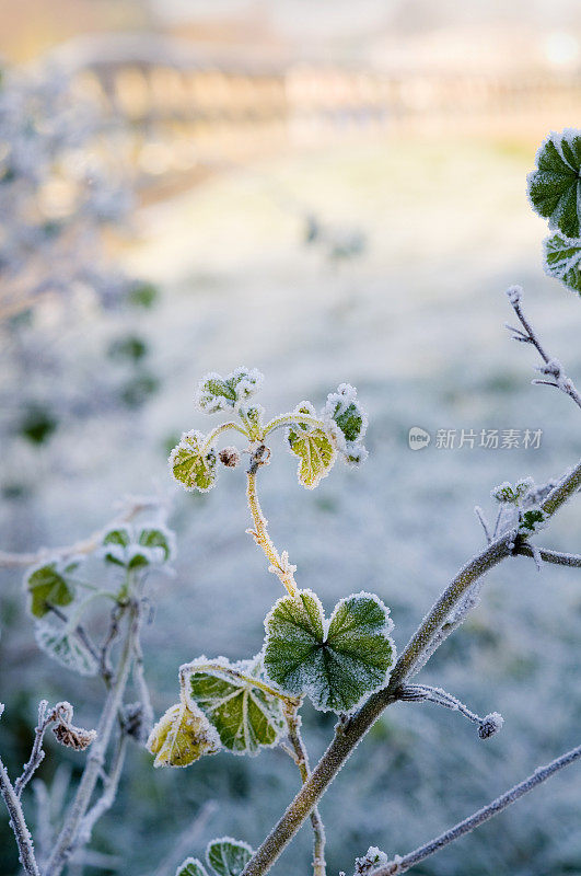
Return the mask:
POLYGON ((570 763, 574 763, 579 758, 581 758, 581 746, 571 749, 571 751, 568 751, 566 754, 561 754, 560 758, 547 763, 546 766, 541 766, 535 770, 524 782, 514 785, 514 787, 511 787, 506 794, 502 794, 500 797, 497 797, 496 800, 489 803, 488 806, 478 809, 477 812, 470 815, 469 818, 465 818, 464 821, 458 821, 457 825, 454 825, 453 828, 441 833, 434 840, 431 840, 403 857, 395 857, 379 869, 373 871, 373 876, 396 876, 396 874, 405 873, 410 867, 419 864, 420 861, 423 861, 430 855, 433 855, 434 852, 443 849, 444 845, 454 842, 461 837, 464 837, 465 833, 469 833, 470 830, 484 825, 485 821, 488 821, 495 815, 498 815, 508 806, 511 806, 511 804, 516 803, 518 799, 528 794, 530 791, 533 791, 537 785, 546 782, 547 779, 550 779, 550 776, 559 772, 559 770, 562 770, 570 763))

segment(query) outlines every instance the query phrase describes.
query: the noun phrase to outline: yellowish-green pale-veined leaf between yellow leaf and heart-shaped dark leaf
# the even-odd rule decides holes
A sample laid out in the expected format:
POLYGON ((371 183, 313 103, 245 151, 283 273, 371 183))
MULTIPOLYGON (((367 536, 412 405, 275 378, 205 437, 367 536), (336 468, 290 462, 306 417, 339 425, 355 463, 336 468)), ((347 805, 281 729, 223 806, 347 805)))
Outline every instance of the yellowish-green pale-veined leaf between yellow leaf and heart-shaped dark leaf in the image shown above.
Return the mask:
POLYGON ((186 701, 205 712, 224 748, 235 754, 256 754, 284 730, 280 700, 253 683, 258 669, 256 661, 200 657, 179 670, 186 701))

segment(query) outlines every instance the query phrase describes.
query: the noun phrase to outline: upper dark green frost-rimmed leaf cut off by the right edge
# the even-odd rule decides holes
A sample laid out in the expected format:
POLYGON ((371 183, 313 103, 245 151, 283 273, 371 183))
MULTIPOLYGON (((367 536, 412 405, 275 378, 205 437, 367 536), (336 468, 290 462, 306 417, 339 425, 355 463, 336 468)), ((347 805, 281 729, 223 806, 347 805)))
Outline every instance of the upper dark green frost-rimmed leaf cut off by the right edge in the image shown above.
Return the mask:
POLYGON ((533 208, 548 219, 551 230, 581 237, 581 131, 550 134, 541 145, 536 165, 526 177, 533 208))

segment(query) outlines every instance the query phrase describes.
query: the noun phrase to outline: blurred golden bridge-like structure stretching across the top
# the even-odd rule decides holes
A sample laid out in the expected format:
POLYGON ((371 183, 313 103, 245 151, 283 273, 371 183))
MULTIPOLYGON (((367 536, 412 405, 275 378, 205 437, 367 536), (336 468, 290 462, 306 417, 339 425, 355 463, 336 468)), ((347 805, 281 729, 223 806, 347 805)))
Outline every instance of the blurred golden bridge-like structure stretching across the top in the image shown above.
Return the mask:
POLYGON ((119 148, 141 182, 158 187, 289 148, 409 128, 538 138, 557 118, 571 124, 581 106, 578 73, 538 68, 508 76, 428 69, 418 59, 405 70, 363 69, 116 35, 75 39, 51 60, 125 120, 119 148))

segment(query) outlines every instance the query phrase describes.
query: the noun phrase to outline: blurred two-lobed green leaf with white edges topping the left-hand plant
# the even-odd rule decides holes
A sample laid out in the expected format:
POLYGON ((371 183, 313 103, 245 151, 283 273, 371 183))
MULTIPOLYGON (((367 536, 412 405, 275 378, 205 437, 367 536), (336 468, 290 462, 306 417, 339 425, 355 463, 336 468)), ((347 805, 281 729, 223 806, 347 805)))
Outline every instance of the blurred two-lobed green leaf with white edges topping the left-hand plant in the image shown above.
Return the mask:
POLYGON ((104 560, 127 568, 163 564, 175 553, 174 533, 159 525, 116 527, 105 532, 102 543, 104 560))

